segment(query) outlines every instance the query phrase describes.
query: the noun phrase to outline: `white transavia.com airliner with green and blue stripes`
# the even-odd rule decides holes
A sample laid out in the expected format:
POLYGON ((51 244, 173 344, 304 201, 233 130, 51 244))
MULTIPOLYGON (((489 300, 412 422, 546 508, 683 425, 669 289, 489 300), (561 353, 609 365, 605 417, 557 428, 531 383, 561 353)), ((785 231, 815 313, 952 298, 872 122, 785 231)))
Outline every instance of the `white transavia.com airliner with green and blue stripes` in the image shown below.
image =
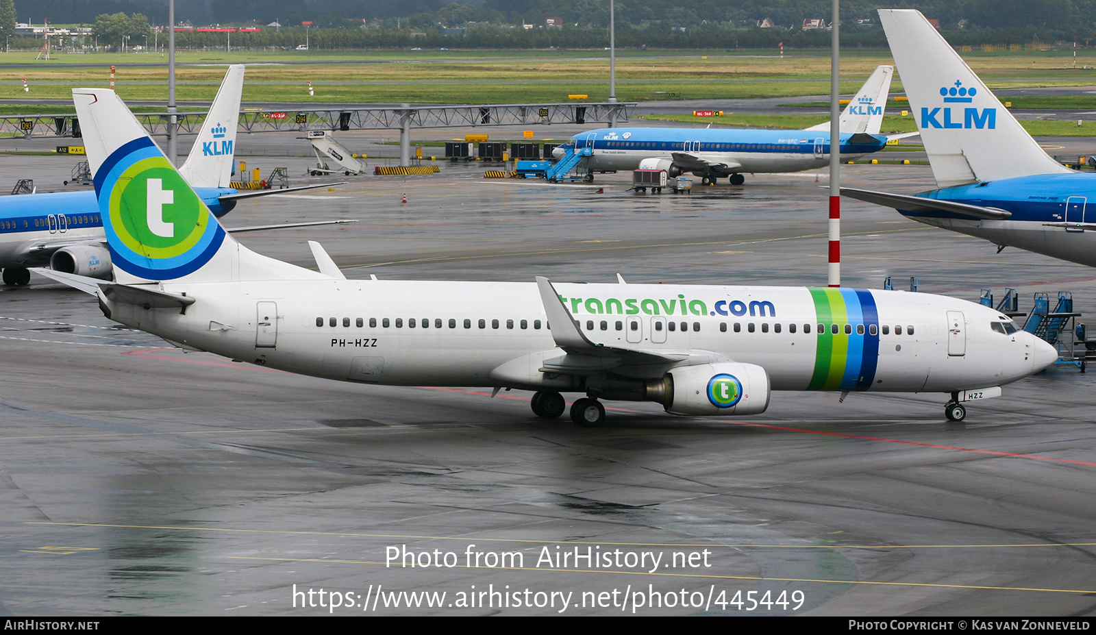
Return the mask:
POLYGON ((921 293, 346 280, 312 242, 313 272, 227 235, 116 94, 73 98, 117 282, 41 273, 183 349, 365 384, 533 390, 546 418, 579 393, 581 426, 604 420, 600 399, 743 416, 772 390, 949 393, 960 420, 964 401, 1058 358, 991 308, 921 293))

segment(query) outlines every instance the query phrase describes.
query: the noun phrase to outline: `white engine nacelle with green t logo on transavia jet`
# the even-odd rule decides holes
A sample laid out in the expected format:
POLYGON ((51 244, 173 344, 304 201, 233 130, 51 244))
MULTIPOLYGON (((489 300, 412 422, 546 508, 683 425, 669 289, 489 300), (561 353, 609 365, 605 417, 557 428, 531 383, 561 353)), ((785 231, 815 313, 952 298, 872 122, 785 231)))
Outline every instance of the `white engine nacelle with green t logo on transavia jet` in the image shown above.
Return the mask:
POLYGON ((756 364, 717 362, 671 368, 644 396, 672 415, 760 415, 768 408, 768 373, 756 364))

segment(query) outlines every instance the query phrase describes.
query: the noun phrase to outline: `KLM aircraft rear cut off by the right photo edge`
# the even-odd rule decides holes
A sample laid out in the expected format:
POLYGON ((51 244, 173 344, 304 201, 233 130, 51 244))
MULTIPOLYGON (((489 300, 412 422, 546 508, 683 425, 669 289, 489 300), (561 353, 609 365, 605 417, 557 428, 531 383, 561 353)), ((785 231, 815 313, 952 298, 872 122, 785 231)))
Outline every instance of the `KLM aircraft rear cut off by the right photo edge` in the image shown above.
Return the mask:
POLYGON ((939 33, 911 9, 881 9, 939 190, 842 188, 846 196, 997 245, 1096 267, 1096 174, 1043 151, 939 33))

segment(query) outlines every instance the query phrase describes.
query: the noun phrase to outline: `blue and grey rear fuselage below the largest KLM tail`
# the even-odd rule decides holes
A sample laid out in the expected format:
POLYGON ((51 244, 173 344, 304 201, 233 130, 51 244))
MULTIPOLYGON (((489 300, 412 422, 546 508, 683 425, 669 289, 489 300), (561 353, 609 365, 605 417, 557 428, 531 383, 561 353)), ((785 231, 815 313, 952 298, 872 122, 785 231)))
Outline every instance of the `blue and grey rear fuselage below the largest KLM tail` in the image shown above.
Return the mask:
POLYGON ((1032 174, 922 192, 917 196, 1009 212, 1006 219, 979 219, 943 211, 903 216, 991 240, 1096 267, 1096 174, 1032 174), (1093 208, 1087 206, 1092 204, 1093 208))

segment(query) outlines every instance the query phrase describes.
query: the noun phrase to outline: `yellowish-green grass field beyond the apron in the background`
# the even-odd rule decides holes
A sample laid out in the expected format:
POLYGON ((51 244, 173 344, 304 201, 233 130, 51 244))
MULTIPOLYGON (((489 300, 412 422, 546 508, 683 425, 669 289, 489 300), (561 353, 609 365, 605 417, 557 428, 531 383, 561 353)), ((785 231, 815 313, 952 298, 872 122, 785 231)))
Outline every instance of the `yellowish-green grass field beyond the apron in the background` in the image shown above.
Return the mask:
MULTIPOLYGON (((800 97, 829 92, 829 53, 620 50, 621 100, 800 97), (672 93, 672 94, 671 94, 672 93)), ((61 99, 72 88, 104 87, 117 67, 118 93, 128 100, 167 100, 167 58, 156 54, 0 54, 0 99, 61 99), (22 79, 30 83, 24 92, 22 79)), ((250 64, 246 101, 306 102, 311 81, 317 102, 514 103, 567 101, 568 94, 608 97, 605 50, 378 50, 221 52, 178 56, 178 99, 213 99, 229 63, 250 64)), ((1071 68, 1066 53, 968 54, 991 88, 1096 84, 1096 52, 1071 68), (1094 67, 1084 70, 1083 66, 1094 67)), ((855 92, 886 50, 843 52, 842 92, 855 92)), ((894 91, 901 90, 895 82, 894 91)), ((1032 107, 1032 106, 1028 106, 1032 107)), ((1057 106, 1055 106, 1057 107, 1057 106)))

